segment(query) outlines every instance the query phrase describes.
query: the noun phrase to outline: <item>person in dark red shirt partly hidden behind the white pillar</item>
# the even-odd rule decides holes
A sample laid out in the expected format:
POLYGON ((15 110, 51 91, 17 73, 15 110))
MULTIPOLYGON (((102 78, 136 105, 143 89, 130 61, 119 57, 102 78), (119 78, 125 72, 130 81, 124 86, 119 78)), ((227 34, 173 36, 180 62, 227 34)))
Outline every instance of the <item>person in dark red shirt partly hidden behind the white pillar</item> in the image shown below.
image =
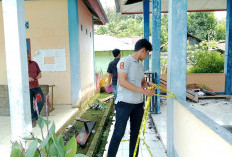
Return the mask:
POLYGON ((44 95, 39 85, 39 79, 42 78, 41 70, 35 61, 31 60, 31 54, 27 53, 28 60, 28 74, 29 74, 29 88, 30 88, 30 102, 31 102, 31 119, 32 126, 35 127, 38 114, 44 105, 44 95), (36 100, 37 107, 34 106, 33 100, 36 100), (37 108, 37 109, 36 109, 37 108), (37 113, 38 112, 38 113, 37 113))

